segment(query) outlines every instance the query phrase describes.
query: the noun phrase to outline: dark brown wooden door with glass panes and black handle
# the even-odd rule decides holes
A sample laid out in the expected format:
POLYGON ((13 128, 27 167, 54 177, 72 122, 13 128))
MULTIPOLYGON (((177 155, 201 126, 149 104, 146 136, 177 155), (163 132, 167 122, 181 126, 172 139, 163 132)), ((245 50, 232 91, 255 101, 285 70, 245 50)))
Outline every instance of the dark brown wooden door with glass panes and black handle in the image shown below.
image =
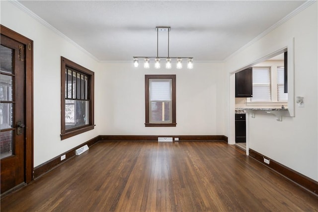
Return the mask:
MULTIPOLYGON (((27 154, 30 143, 26 142, 30 137, 29 131, 32 130, 30 122, 26 123, 26 91, 30 89, 26 86, 28 81, 26 71, 30 63, 26 63, 26 60, 29 60, 29 57, 26 57, 26 51, 29 46, 2 34, 2 26, 0 41, 0 181, 2 194, 32 180, 30 167, 33 169, 33 159, 30 161, 30 155, 27 154), (26 127, 30 129, 26 130, 26 127)), ((30 114, 28 119, 29 116, 30 114)), ((30 139, 32 140, 32 137, 30 139)), ((33 152, 33 149, 30 150, 33 152)))

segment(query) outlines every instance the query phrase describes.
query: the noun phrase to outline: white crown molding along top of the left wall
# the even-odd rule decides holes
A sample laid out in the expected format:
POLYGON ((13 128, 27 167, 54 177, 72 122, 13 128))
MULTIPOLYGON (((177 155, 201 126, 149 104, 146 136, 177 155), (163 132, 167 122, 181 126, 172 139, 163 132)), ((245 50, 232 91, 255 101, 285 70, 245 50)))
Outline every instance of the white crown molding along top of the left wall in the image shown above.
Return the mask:
POLYGON ((87 52, 84 48, 82 48, 81 46, 79 46, 79 44, 77 44, 76 42, 74 42, 71 38, 69 38, 68 36, 66 36, 65 34, 63 34, 62 32, 60 32, 58 29, 56 29, 55 27, 53 27, 51 24, 49 24, 48 22, 46 22, 45 20, 43 20, 40 16, 38 16, 37 14, 35 14, 34 12, 32 12, 30 9, 28 9, 27 7, 25 7, 23 4, 21 4, 19 1, 17 0, 9 0, 10 3, 12 3, 14 6, 16 6, 17 8, 21 9, 22 11, 24 11, 26 14, 28 14, 29 16, 31 16, 33 19, 35 19, 36 21, 40 22, 42 25, 44 25, 45 27, 47 27, 48 29, 50 29, 52 32, 54 32, 55 34, 59 35, 60 37, 62 37, 63 39, 67 40, 68 42, 70 42, 71 44, 73 44, 75 47, 77 47, 81 52, 85 53, 87 56, 89 56, 90 58, 92 58, 93 60, 95 60, 96 62, 100 62, 95 56, 93 56, 92 54, 90 54, 89 52, 87 52))

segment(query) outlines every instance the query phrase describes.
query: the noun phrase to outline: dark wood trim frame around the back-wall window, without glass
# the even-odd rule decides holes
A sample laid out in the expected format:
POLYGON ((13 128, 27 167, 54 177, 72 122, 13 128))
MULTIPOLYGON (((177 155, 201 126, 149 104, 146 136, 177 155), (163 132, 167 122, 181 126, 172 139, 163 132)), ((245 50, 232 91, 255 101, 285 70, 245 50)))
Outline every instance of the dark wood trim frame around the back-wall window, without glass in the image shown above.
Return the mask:
POLYGON ((175 89, 175 74, 166 75, 145 75, 145 108, 146 108, 146 122, 145 127, 175 127, 176 126, 176 89, 175 89), (149 117, 149 79, 172 79, 172 123, 153 124, 150 123, 149 117))

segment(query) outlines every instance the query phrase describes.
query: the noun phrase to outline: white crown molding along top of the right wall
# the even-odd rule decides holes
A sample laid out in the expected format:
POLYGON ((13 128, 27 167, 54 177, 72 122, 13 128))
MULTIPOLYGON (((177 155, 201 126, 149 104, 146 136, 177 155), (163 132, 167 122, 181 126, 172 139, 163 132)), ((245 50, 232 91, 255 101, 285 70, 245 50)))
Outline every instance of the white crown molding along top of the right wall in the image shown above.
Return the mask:
POLYGON ((304 9, 306 9, 307 7, 309 7, 310 5, 312 5, 313 3, 317 2, 317 0, 307 0, 305 3, 303 3, 302 5, 300 5, 299 7, 297 7, 294 11, 292 11, 291 13, 289 13, 288 15, 286 15, 285 17, 283 17, 281 20, 279 20, 278 22, 276 22, 274 25, 272 25, 271 27, 269 27, 268 29, 266 29, 264 32, 262 32, 261 34, 259 34, 257 37, 255 37, 253 40, 251 40, 250 42, 248 42, 247 44, 245 44, 244 46, 242 46, 241 48, 239 48, 239 50, 237 50, 236 52, 234 52, 233 54, 231 54, 230 56, 228 56, 226 59, 224 59, 224 62, 228 61, 230 58, 234 57, 235 55, 239 54, 241 51, 243 51, 244 49, 246 49, 248 46, 252 45, 253 43, 255 43, 256 41, 258 41, 259 39, 261 39, 262 37, 264 37, 265 35, 267 35, 268 33, 270 33, 271 31, 273 31, 274 29, 278 28, 279 26, 283 25, 285 22, 287 22, 289 19, 291 19, 292 17, 294 17, 295 15, 297 15, 298 13, 300 13, 301 11, 303 11, 304 9))

